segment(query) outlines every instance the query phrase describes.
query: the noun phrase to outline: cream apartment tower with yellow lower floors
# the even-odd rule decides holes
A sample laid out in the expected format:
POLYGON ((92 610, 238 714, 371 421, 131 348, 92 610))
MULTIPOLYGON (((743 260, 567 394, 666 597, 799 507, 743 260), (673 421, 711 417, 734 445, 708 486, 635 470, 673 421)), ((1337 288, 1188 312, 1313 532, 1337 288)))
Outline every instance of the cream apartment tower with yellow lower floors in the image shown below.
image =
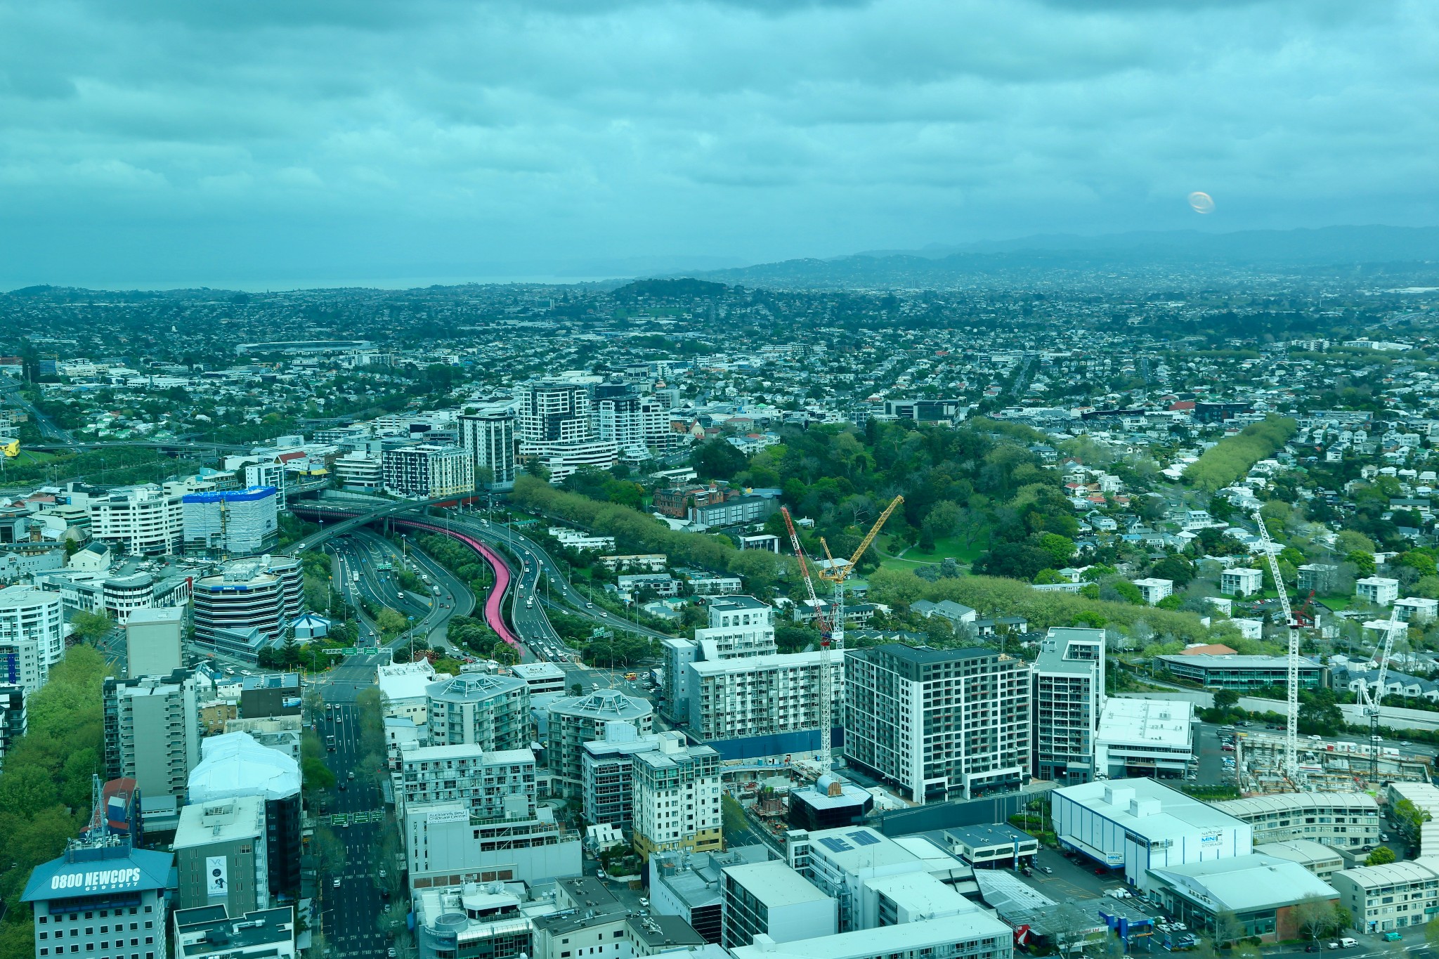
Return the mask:
POLYGON ((633 761, 635 851, 648 860, 653 853, 722 848, 720 753, 673 736, 655 745, 633 761))

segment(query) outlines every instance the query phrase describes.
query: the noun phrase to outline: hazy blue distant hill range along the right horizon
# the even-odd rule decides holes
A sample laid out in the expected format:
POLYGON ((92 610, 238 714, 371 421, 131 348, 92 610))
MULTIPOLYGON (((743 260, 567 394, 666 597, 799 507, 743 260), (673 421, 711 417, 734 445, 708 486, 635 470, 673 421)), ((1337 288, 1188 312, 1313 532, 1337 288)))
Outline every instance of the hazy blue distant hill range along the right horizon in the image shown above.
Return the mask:
POLYGON ((1197 230, 1040 234, 920 250, 872 250, 696 273, 745 286, 943 285, 966 277, 1055 270, 1215 267, 1353 267, 1439 265, 1439 227, 1334 226, 1317 230, 1197 230))

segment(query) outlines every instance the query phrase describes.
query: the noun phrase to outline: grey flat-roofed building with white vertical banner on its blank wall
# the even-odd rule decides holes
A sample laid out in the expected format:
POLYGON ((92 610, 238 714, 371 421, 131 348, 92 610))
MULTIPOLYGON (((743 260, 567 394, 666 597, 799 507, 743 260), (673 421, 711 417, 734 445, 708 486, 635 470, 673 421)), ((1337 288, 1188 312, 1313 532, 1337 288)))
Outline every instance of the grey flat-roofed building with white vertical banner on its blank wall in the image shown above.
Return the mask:
POLYGON ((178 909, 223 906, 227 914, 239 916, 269 907, 265 801, 259 797, 184 807, 173 848, 180 871, 178 909))

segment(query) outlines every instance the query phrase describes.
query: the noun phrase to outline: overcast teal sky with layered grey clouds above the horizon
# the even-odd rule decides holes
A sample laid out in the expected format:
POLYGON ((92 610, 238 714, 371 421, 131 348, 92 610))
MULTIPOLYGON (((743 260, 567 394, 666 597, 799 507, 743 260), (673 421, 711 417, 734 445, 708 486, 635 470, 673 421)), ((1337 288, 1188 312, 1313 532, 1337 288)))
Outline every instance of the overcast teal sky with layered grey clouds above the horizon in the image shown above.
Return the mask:
POLYGON ((1436 50, 1435 0, 0 0, 0 286, 1430 226, 1436 50))

